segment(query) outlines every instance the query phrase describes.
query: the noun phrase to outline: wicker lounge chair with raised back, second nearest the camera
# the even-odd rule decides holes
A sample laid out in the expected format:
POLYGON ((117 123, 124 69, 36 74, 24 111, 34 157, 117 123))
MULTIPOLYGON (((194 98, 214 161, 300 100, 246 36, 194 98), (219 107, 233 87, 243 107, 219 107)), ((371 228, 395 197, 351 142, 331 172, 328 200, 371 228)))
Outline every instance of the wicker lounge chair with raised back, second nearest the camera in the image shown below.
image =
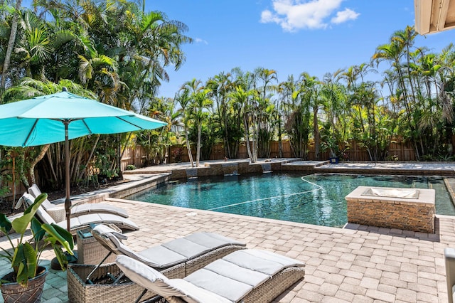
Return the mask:
POLYGON ((143 266, 159 270, 166 277, 183 278, 213 260, 218 260, 236 250, 245 249, 246 246, 245 243, 215 233, 193 233, 141 252, 134 252, 122 243, 122 240, 127 239, 124 234, 106 225, 96 225, 92 229, 92 235, 107 248, 109 253, 98 265, 68 266, 70 302, 107 303, 112 302, 111 294, 118 302, 134 302, 135 299, 139 302, 140 298, 149 299, 156 296, 156 293, 147 291, 141 285, 122 281, 123 273, 115 263, 102 264, 112 253, 128 255, 134 260, 139 260, 143 266), (106 279, 109 282, 98 282, 106 279))

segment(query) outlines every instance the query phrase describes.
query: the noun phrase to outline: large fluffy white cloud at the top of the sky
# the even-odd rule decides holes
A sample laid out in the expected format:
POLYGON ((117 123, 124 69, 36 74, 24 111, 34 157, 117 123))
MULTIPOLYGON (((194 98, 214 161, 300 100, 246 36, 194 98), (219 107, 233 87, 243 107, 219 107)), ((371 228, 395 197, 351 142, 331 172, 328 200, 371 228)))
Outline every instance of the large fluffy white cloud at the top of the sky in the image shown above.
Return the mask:
POLYGON ((273 11, 264 10, 262 23, 277 23, 284 31, 302 28, 326 28, 331 23, 355 20, 360 14, 351 9, 340 11, 343 0, 272 0, 273 11))

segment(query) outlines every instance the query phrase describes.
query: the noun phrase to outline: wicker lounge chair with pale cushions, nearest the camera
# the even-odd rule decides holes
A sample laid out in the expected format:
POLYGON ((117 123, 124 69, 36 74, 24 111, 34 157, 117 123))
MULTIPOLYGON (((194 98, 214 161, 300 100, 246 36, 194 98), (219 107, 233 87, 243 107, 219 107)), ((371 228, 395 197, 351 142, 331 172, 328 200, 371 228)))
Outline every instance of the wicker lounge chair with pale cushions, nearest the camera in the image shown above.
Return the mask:
POLYGON ((271 302, 304 278, 304 263, 265 250, 238 250, 184 279, 168 279, 131 257, 117 266, 138 285, 168 302, 271 302))

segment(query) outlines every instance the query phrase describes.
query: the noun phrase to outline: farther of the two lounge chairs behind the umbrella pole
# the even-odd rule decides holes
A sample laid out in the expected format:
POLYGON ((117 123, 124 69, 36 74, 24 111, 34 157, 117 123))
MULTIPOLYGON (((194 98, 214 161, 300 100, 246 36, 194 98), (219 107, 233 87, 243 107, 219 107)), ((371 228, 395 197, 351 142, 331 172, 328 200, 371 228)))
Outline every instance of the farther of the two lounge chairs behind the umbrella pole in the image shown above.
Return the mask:
MULTIPOLYGON (((28 193, 36 198, 41 194, 41 190, 36 184, 33 184, 30 188, 28 188, 28 193)), ((60 205, 53 204, 48 199, 45 199, 41 206, 43 206, 49 216, 51 216, 56 222, 66 219, 65 206, 63 203, 60 205)), ((123 208, 111 206, 106 203, 75 203, 71 206, 72 217, 87 215, 89 213, 112 213, 117 216, 128 218, 128 213, 123 208)))

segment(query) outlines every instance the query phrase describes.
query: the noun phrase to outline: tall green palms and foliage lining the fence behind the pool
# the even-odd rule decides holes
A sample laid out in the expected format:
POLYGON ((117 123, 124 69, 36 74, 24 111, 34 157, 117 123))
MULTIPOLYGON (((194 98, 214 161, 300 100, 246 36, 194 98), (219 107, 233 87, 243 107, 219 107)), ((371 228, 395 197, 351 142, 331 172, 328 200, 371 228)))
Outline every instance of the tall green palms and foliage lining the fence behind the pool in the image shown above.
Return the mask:
MULTIPOLYGON (((138 132, 131 140, 129 135, 102 136, 100 142, 95 136, 72 140, 73 184, 83 179, 93 156, 106 174, 118 174, 119 156, 128 144, 146 149, 145 164, 161 163, 168 147, 186 144, 192 166, 191 142, 197 165, 213 142, 223 142, 230 159, 248 142, 248 156, 257 161, 269 155, 272 138, 289 139, 294 156, 304 159, 311 138, 316 159, 321 149, 340 155, 348 139, 358 140, 371 160, 387 159, 392 137, 411 142, 417 159, 452 154, 444 147, 451 143, 454 129, 455 47, 430 53, 414 46, 417 33, 411 26, 382 41, 372 50, 370 62, 321 79, 301 73, 280 82, 272 69, 232 68, 205 82, 186 81, 172 100, 157 95, 161 82, 168 81, 166 69, 178 70, 186 60, 181 46, 192 39, 186 36, 185 24, 160 11, 142 11, 134 1, 33 4, 33 10, 22 8, 14 15, 15 41, 8 35, 14 16, 0 7, 0 58, 7 57, 8 48, 15 50, 2 70, 6 91, 0 103, 45 95, 65 85, 72 92, 86 92, 100 102, 168 122, 159 132, 138 132), (379 65, 385 65, 385 72, 369 81, 368 74, 378 73, 379 65), (183 127, 184 142, 173 132, 177 125, 183 127), (190 139, 188 133, 196 137, 190 139), (105 150, 109 156, 100 159, 105 150)), ((32 164, 40 151, 22 153, 17 173, 24 184, 32 179, 32 164)), ((61 144, 52 144, 37 164, 42 179, 53 187, 63 184, 62 152, 61 144)), ((1 186, 9 176, 1 176, 4 192, 1 186)))

